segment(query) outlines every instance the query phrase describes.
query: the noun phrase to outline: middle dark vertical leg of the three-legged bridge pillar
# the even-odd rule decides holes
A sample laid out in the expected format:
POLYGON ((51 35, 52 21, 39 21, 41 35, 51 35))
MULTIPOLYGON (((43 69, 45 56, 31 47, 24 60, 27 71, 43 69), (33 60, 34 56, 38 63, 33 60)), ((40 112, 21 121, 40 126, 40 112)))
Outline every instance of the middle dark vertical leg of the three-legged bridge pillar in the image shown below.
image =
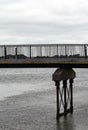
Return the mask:
POLYGON ((66 94, 66 89, 67 89, 67 80, 63 80, 63 88, 64 88, 64 115, 67 115, 67 94, 66 94))

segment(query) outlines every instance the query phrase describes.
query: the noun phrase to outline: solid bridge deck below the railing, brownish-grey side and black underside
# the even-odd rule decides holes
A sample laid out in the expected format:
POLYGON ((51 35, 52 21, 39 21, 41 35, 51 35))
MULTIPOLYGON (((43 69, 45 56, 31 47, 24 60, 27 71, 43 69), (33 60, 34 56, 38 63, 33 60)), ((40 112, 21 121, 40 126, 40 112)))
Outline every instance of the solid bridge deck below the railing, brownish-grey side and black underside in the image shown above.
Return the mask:
POLYGON ((88 68, 88 58, 0 59, 0 68, 88 68))

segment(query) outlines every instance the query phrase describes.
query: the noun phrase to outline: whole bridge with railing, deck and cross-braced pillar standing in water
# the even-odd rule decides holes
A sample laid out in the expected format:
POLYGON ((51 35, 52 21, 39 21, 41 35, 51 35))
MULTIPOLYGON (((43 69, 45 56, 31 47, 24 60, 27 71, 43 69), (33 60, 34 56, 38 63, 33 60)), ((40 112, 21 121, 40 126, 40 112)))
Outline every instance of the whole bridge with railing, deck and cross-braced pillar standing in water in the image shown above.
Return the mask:
POLYGON ((88 44, 0 45, 0 68, 59 68, 52 79, 56 86, 56 117, 73 113, 72 68, 88 68, 88 44))

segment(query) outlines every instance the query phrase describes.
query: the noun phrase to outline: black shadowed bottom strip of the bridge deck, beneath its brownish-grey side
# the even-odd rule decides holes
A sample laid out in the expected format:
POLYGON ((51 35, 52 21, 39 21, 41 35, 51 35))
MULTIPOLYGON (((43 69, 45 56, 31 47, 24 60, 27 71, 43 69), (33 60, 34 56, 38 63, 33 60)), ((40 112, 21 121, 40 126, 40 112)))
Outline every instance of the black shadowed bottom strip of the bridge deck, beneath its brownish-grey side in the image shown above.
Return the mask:
POLYGON ((88 64, 0 64, 0 68, 88 68, 88 64))

